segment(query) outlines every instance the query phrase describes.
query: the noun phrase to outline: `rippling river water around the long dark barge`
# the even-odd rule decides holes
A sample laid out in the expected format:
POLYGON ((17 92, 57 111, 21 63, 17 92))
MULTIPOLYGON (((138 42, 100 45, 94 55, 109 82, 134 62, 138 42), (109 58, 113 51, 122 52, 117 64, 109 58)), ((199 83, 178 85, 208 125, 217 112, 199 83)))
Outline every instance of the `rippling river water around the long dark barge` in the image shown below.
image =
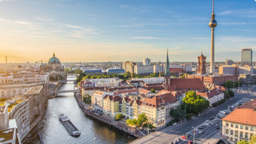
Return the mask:
MULTIPOLYGON (((75 78, 67 78, 75 80, 75 78)), ((63 84, 60 90, 73 90, 73 82, 63 84)), ((74 93, 59 93, 58 97, 48 99, 41 121, 22 141, 23 144, 40 144, 38 131, 41 132, 45 144, 124 144, 136 137, 107 125, 93 117, 85 115, 79 107, 74 93), (70 136, 59 121, 61 114, 68 116, 70 121, 80 130, 79 137, 70 136), (95 139, 94 139, 95 138, 95 139)))

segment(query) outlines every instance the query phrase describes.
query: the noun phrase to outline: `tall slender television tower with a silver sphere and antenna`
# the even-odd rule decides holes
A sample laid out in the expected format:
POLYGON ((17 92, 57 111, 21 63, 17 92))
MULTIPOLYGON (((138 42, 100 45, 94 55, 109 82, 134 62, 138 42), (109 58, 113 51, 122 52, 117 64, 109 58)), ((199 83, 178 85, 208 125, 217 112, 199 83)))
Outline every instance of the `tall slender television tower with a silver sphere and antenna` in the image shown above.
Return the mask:
POLYGON ((215 20, 214 14, 214 0, 212 0, 212 19, 209 23, 209 27, 212 27, 212 46, 211 46, 211 65, 210 65, 210 73, 214 73, 214 27, 217 26, 217 21, 215 20))

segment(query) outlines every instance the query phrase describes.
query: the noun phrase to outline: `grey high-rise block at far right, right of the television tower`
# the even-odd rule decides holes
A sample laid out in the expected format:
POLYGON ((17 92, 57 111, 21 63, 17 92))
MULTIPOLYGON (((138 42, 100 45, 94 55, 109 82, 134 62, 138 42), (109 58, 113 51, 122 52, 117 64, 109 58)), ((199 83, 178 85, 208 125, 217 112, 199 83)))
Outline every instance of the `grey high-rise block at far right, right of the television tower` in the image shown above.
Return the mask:
POLYGON ((252 49, 242 49, 241 51, 241 65, 252 66, 252 49))

